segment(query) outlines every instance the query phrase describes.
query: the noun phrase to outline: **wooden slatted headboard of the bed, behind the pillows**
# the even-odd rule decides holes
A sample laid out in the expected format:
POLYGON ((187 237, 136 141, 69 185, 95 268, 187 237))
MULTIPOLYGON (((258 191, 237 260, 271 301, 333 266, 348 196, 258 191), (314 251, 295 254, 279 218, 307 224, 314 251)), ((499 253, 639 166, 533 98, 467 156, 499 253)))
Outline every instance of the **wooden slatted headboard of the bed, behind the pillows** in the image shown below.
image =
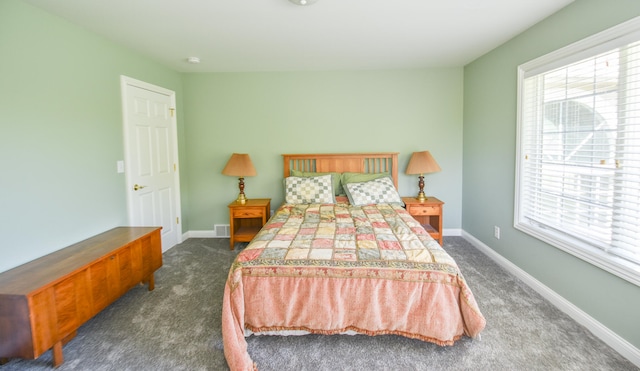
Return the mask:
POLYGON ((314 153, 282 155, 284 159, 284 176, 291 170, 353 173, 388 172, 393 184, 398 188, 398 152, 374 153, 314 153))

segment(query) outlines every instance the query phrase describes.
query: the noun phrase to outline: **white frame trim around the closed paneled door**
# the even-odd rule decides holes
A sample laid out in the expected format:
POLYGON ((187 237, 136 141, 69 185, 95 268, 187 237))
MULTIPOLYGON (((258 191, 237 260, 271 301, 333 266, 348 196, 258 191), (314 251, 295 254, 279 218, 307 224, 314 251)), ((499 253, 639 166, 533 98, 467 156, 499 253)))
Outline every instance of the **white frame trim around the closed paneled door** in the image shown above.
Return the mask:
MULTIPOLYGON (((131 146, 134 143, 131 143, 131 138, 129 138, 129 132, 128 132, 128 114, 127 114, 127 88, 129 86, 133 86, 133 87, 137 87, 140 89, 145 89, 145 90, 149 90, 152 91, 154 93, 158 93, 158 94, 162 94, 162 95, 166 95, 169 97, 170 101, 171 101, 171 107, 173 109, 173 114, 171 115, 171 136, 173 139, 173 153, 171 153, 170 155, 173 158, 173 163, 175 165, 174 167, 174 172, 173 172, 173 187, 175 189, 174 192, 174 197, 175 199, 173 200, 175 202, 175 207, 176 207, 176 216, 178 218, 177 223, 176 223, 176 230, 177 230, 177 235, 176 235, 176 242, 177 243, 181 243, 182 242, 182 209, 180 206, 180 163, 179 163, 179 158, 178 158, 178 125, 177 125, 177 119, 178 119, 178 114, 176 112, 176 93, 173 90, 169 90, 169 89, 165 89, 163 87, 157 86, 157 85, 153 85, 153 84, 149 84, 147 82, 144 81, 140 81, 140 80, 136 80, 134 78, 125 76, 125 75, 120 75, 120 88, 121 88, 121 97, 122 97, 122 128, 123 128, 123 146, 124 146, 124 162, 125 162, 125 194, 127 197, 127 218, 128 218, 128 222, 131 225, 132 221, 133 221, 133 217, 134 217, 134 202, 133 202, 133 197, 131 194, 131 187, 133 187, 131 185, 131 172, 129 170, 129 166, 127 166, 127 164, 131 161, 131 146)), ((172 246, 162 246, 162 250, 163 252, 168 250, 169 248, 171 248, 172 246)))

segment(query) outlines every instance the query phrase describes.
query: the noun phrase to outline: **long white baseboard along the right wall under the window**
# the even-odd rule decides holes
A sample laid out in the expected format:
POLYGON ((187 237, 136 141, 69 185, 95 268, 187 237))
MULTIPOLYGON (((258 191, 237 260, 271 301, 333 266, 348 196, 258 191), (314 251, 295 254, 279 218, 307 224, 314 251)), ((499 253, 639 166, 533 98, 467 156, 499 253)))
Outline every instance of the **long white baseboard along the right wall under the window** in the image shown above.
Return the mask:
POLYGON ((502 255, 495 252, 489 246, 485 245, 482 241, 473 237, 466 231, 462 231, 462 237, 474 245, 478 250, 487 255, 493 261, 495 261, 502 268, 518 277, 529 287, 537 291, 545 299, 549 300, 558 309, 566 313, 569 317, 573 318, 576 322, 585 326, 595 336, 604 341, 611 348, 615 349, 623 357, 627 358, 636 366, 640 367, 640 349, 634 347, 631 343, 620 337, 615 332, 598 322, 596 319, 582 311, 580 308, 572 304, 570 301, 560 296, 549 287, 545 286, 542 282, 535 279, 527 272, 520 269, 518 266, 505 259, 502 255))

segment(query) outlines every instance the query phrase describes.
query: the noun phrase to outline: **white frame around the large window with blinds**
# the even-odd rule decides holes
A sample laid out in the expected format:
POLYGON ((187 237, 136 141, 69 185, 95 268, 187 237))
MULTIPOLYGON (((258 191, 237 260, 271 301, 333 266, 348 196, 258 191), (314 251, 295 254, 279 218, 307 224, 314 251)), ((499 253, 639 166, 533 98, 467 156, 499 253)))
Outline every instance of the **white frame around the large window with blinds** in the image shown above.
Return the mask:
POLYGON ((578 238, 571 238, 564 233, 559 233, 553 229, 530 223, 523 218, 521 210, 523 199, 526 198, 521 194, 525 188, 522 180, 525 176, 523 164, 525 161, 523 149, 523 143, 525 141, 523 138, 523 95, 525 79, 585 58, 595 57, 602 52, 617 48, 622 44, 638 40, 640 40, 640 17, 633 18, 596 35, 587 37, 518 66, 514 228, 640 286, 640 264, 607 253, 578 238))

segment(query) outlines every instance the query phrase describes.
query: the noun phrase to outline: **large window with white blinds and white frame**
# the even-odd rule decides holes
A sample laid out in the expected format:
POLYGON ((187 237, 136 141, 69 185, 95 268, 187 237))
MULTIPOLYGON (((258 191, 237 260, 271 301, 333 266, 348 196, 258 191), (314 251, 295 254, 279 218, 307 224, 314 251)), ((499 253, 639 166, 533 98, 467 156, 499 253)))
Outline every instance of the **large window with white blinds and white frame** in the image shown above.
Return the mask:
POLYGON ((518 68, 515 227, 640 286, 640 17, 518 68))

